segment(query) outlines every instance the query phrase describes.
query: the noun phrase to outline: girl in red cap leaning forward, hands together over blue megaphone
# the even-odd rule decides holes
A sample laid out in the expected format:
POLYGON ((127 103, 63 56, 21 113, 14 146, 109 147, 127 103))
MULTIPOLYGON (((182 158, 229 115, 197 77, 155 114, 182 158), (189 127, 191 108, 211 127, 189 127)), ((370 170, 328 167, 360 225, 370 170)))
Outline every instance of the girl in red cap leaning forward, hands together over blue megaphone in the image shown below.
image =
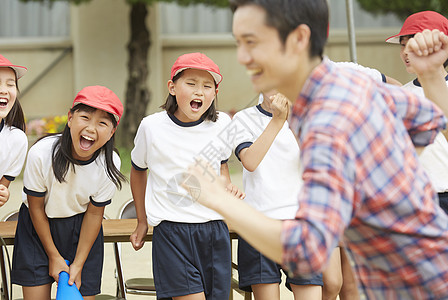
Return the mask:
POLYGON ((122 113, 111 90, 86 87, 74 99, 63 132, 29 150, 11 273, 25 300, 50 299, 61 271, 84 299, 100 293, 104 208, 125 180, 114 151, 122 113))

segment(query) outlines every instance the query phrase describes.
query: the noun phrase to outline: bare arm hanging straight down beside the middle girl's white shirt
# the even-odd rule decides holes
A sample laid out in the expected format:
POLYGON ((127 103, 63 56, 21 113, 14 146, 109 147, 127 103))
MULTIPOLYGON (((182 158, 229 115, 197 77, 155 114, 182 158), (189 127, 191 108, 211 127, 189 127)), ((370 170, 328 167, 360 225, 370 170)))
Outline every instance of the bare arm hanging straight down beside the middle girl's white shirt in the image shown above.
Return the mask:
POLYGON ((131 168, 131 192, 134 198, 135 211, 137 212, 137 228, 132 233, 130 241, 135 250, 140 250, 145 243, 144 238, 148 233, 148 221, 146 219, 145 192, 147 173, 131 168))

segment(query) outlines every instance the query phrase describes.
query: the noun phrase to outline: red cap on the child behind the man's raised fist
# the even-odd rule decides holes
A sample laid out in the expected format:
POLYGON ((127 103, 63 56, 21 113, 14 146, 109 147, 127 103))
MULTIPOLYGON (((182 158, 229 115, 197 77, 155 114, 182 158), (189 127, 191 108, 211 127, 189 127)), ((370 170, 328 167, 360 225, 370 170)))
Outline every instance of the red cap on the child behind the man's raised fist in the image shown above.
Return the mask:
POLYGON ((425 29, 438 29, 448 35, 448 20, 435 11, 421 11, 410 15, 403 23, 400 33, 386 39, 386 42, 399 44, 400 37, 404 35, 414 35, 425 29))

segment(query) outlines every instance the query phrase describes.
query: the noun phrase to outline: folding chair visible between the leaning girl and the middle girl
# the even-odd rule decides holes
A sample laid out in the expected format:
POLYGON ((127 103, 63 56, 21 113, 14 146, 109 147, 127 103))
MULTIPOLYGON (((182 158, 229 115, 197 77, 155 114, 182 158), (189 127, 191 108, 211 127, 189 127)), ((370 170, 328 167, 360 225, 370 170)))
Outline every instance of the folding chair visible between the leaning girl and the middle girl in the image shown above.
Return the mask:
MULTIPOLYGON (((121 208, 119 214, 119 219, 136 219, 137 214, 135 212, 134 199, 128 200, 121 208)), ((126 299, 126 294, 134 295, 147 295, 155 296, 156 288, 154 285, 154 279, 149 277, 140 278, 130 278, 128 280, 124 279, 122 264, 121 264, 121 243, 114 243, 115 259, 117 260, 117 280, 119 291, 124 295, 126 299)))

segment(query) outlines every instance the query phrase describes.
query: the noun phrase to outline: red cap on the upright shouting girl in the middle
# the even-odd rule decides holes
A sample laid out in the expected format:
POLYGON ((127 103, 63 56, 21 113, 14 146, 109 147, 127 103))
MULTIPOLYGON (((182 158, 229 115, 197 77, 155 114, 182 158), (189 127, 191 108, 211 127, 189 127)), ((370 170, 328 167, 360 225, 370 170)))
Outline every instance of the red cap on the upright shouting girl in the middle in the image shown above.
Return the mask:
POLYGON ((171 79, 185 69, 198 69, 209 72, 215 80, 216 87, 222 81, 222 75, 219 72, 218 65, 205 54, 199 52, 179 56, 171 68, 171 79))

